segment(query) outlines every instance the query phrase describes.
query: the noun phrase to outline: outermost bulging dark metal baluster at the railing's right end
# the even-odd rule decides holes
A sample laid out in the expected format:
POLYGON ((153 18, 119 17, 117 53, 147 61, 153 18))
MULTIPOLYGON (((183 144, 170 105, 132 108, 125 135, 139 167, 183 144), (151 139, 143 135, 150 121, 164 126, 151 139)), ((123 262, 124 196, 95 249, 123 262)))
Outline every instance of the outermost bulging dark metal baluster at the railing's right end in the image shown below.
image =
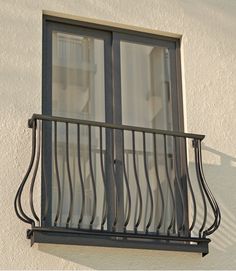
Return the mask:
POLYGON ((211 205, 211 208, 212 208, 212 211, 214 213, 214 216, 215 216, 215 219, 214 219, 214 222, 213 224, 208 228, 206 229, 204 232, 203 232, 203 237, 205 237, 206 235, 210 235, 212 234, 220 225, 220 220, 221 220, 221 213, 220 213, 220 209, 219 209, 219 206, 206 182, 206 179, 205 179, 205 176, 204 176, 204 173, 203 173, 203 165, 202 165, 202 150, 201 150, 201 141, 199 140, 199 148, 198 148, 198 155, 199 155, 199 166, 200 166, 200 174, 201 174, 201 178, 202 178, 202 182, 203 182, 203 189, 205 191, 205 194, 208 198, 208 201, 211 205))

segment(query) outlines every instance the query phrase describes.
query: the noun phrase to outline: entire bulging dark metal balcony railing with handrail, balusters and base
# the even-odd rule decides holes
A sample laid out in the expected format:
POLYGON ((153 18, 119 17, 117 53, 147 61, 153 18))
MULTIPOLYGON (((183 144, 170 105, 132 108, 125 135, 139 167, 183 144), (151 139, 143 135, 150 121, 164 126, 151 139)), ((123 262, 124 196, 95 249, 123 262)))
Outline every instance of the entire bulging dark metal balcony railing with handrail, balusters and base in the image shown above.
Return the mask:
MULTIPOLYGON (((86 244, 86 245, 100 245, 100 246, 117 246, 117 247, 136 247, 136 248, 151 248, 151 249, 168 249, 168 250, 181 250, 181 251, 196 251, 206 254, 208 252, 209 239, 207 235, 212 234, 220 224, 220 210, 215 198, 213 197, 203 174, 202 157, 201 157, 201 140, 204 136, 180 133, 180 132, 169 132, 163 130, 147 129, 142 127, 131 127, 120 124, 108 124, 102 122, 93 122, 87 120, 75 120, 69 118, 61 118, 54 116, 36 115, 34 114, 29 120, 29 127, 32 129, 32 154, 31 160, 23 178, 22 183, 17 191, 15 198, 15 211, 17 216, 25 223, 32 225, 32 230, 28 232, 29 238, 32 242, 53 242, 53 243, 67 243, 67 244, 86 244), (42 212, 41 218, 38 215, 40 212, 35 207, 35 190, 36 185, 40 185, 37 182, 37 171, 39 168, 40 155, 43 160, 46 159, 45 155, 42 155, 43 145, 41 143, 42 137, 41 130, 45 125, 44 123, 50 124, 49 127, 54 127, 53 146, 54 149, 54 181, 46 181, 44 186, 48 187, 49 184, 55 183, 55 188, 48 187, 52 191, 51 195, 57 195, 54 211, 49 209, 42 212), (60 167, 58 162, 59 157, 59 145, 58 145, 58 123, 62 123, 61 128, 65 132, 65 148, 63 158, 66 168, 66 176, 68 177, 68 192, 66 192, 67 207, 64 208, 66 217, 63 217, 63 195, 65 194, 63 185, 61 184, 62 175, 60 176, 60 167), (53 125, 54 124, 54 125, 53 125), (85 193, 85 182, 86 176, 83 173, 82 166, 82 129, 88 131, 88 145, 86 151, 88 152, 88 171, 89 171, 89 183, 92 188, 92 192, 88 195, 85 193), (69 129, 70 127, 70 129, 69 129), (69 140, 70 134, 76 128, 76 140, 73 143, 69 140), (38 133, 37 133, 38 130, 38 133), (94 131, 94 133, 92 133, 94 131), (93 134, 96 133, 98 137, 98 145, 94 148, 93 134), (114 150, 115 131, 121 133, 121 150, 117 152, 114 150), (106 135, 104 137, 103 135, 106 135), (107 139, 107 135, 109 138, 107 139), (138 149, 138 135, 142 136, 142 148, 138 149), (147 149, 148 135, 153 142, 153 152, 147 149), (157 137, 162 138, 161 141, 157 141, 157 137), (187 144, 188 140, 193 139, 193 153, 195 157, 195 171, 197 182, 193 182, 190 179, 189 166, 187 158, 184 162, 184 172, 179 170, 177 159, 177 145, 181 139, 184 143, 183 152, 187 157, 187 144), (112 143, 111 147, 107 150, 107 140, 112 143), (125 140, 129 140, 131 143, 131 149, 125 148, 125 140), (103 143, 104 142, 104 143, 103 143), (93 144, 92 144, 93 143, 93 144), (170 148, 170 143, 173 143, 173 149, 170 148), (71 156, 71 144, 75 144, 75 155, 77 160, 77 172, 78 180, 80 185, 80 191, 75 189, 74 173, 72 173, 72 162, 71 156), (161 154, 162 162, 157 159, 160 150, 163 149, 161 154), (170 154, 171 152, 171 154, 170 154), (122 154, 122 155, 121 155, 122 154), (117 155, 121 160, 117 159, 117 155), (109 156, 110 158, 105 158, 109 156), (125 158, 126 157, 126 158, 125 158), (140 157, 142 157, 140 162, 140 157), (130 161, 132 167, 130 168, 130 161), (153 161, 153 162, 151 162, 153 161), (116 163, 121 163, 122 177, 118 179, 116 174, 116 163), (153 165, 153 173, 150 173, 150 166, 153 165), (163 174, 160 175, 159 169, 162 167, 163 174), (111 169, 108 170, 107 168, 111 169), (98 180, 97 171, 101 173, 101 181, 98 180), (32 178, 29 178, 32 172, 32 178), (109 173, 110 172, 110 173, 109 173), (141 172, 143 176, 141 177, 141 172), (131 176, 134 177, 134 186, 131 187, 131 176), (188 215, 190 208, 185 200, 185 192, 183 190, 182 180, 184 179, 182 174, 186 178, 187 195, 190 197, 192 202, 192 217, 188 215), (162 176, 162 177, 161 177, 162 176), (107 177, 112 177, 112 180, 107 182, 107 177), (27 181, 30 181, 29 186, 25 186, 27 181), (98 182, 99 181, 99 182, 98 182), (118 190, 118 184, 123 182, 125 190, 120 195, 118 190), (107 189, 107 185, 110 185, 107 189), (155 184, 155 188, 153 187, 155 184), (165 184, 169 199, 166 198, 166 192, 164 193, 163 184, 165 184), (98 190, 98 185, 104 187, 102 190, 98 190), (23 190, 29 187, 29 204, 31 215, 26 214, 22 205, 21 197, 23 190), (143 189, 146 187, 146 189, 143 189), (195 187, 197 189, 195 189, 195 187), (98 192, 104 191, 104 192, 98 192), (108 204, 108 197, 110 191, 113 191, 113 198, 109 201, 112 203, 108 204), (147 191, 147 192, 146 192, 147 191), (53 194, 54 193, 54 194, 53 194), (68 195, 67 195, 68 194, 68 195), (80 211, 78 214, 73 213, 73 206, 75 205, 76 198, 80 197, 80 211), (137 204, 135 204, 135 196, 137 196, 137 204), (154 201, 154 198, 159 198, 158 201, 154 201), (101 204, 98 199, 102 200, 101 204), (120 206, 124 206, 126 199, 126 211, 120 206), (89 218, 88 227, 84 226, 86 223, 86 204, 90 200, 91 215, 89 218), (120 202, 118 206, 118 200, 120 202), (147 204, 144 206, 144 201, 148 202, 149 210, 147 210, 147 204), (203 208, 196 207, 196 202, 201 201, 203 208), (122 204, 121 204, 122 203, 122 204), (207 208, 209 205, 209 208, 207 208), (159 208, 157 213, 157 207, 159 208), (110 208, 114 208, 113 211, 109 212, 110 208), (146 209, 146 211, 145 211, 146 209), (188 213, 186 213, 186 210, 188 213), (208 212, 213 214, 213 222, 210 224, 210 215, 208 212), (51 212, 51 213, 50 213, 51 212), (47 227, 44 225, 45 217, 49 213, 49 217, 52 218, 52 226, 47 227), (99 218, 99 214, 100 218, 99 218), (136 214, 136 215, 135 215, 136 214), (203 219, 200 221, 200 225, 197 224, 197 215, 203 214, 203 219), (158 219, 155 216, 158 215, 158 219), (111 216, 111 218, 109 217, 111 216), (188 217, 188 220, 186 217, 188 217), (76 218, 78 217, 78 218, 76 218), (132 225, 131 217, 134 217, 135 223, 132 225), (59 219, 60 218, 60 219, 59 219), (99 220, 98 220, 99 219, 99 220), (111 224, 108 223, 110 219, 111 224), (73 221, 76 222, 74 226, 73 221), (186 221, 190 221, 189 225, 186 221), (35 224, 39 225, 35 227, 35 224), (118 222, 122 222, 122 227, 118 227, 118 222), (97 225, 99 226, 99 229, 97 225), (64 227, 65 225, 65 227, 64 227), (110 226, 111 227, 110 227, 110 226), (144 225, 144 226, 142 226, 144 225), (194 237, 194 233, 198 231, 198 236, 194 237), (186 233, 186 234, 185 234, 186 233), (140 242, 139 242, 140 240, 140 242)), ((83 130, 84 131, 84 130, 83 130)), ((61 132, 61 130, 60 130, 61 132)), ((171 145, 171 146, 172 146, 171 145)), ((120 145, 119 145, 120 146, 120 145)), ((62 154, 60 154, 62 155, 62 154)), ((51 155, 48 159, 51 159, 51 155)), ((83 158, 84 159, 84 158, 83 158)), ((43 164, 49 163, 49 161, 42 161, 43 164)), ((53 178, 53 177, 52 177, 53 178)), ((45 179, 45 178, 43 178, 45 179)), ((88 185, 88 183, 86 184, 88 185)), ((45 191, 45 190, 44 190, 45 191)), ((47 192, 47 191, 45 191, 47 192)), ((44 195, 46 201, 52 201, 49 195, 44 195)), ((65 200, 65 198, 64 198, 65 200)), ((44 203, 42 206, 48 206, 48 203, 44 203)), ((28 208, 27 208, 28 210, 28 208)), ((191 213, 191 212, 190 212, 191 213)), ((64 213, 65 214, 65 213, 64 213)), ((88 215, 88 214, 87 214, 88 215)))

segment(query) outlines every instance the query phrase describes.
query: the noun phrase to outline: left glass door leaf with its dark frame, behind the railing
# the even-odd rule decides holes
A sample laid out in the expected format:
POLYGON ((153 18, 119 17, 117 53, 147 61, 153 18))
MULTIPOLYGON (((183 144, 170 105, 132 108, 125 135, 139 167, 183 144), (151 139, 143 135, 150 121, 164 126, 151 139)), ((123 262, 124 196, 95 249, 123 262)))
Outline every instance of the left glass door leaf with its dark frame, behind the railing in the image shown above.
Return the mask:
MULTIPOLYGON (((46 62, 51 80, 46 79, 44 114, 112 122, 110 39, 110 33, 105 31, 56 23, 48 25, 46 62)), ((44 157, 51 160, 44 166, 51 201, 46 225, 89 228, 94 211, 94 179, 97 212, 93 228, 99 228, 105 193, 99 161, 99 129, 91 128, 91 153, 86 125, 46 123, 43 133, 44 157)), ((109 149, 105 131, 103 146, 105 157, 109 149)))

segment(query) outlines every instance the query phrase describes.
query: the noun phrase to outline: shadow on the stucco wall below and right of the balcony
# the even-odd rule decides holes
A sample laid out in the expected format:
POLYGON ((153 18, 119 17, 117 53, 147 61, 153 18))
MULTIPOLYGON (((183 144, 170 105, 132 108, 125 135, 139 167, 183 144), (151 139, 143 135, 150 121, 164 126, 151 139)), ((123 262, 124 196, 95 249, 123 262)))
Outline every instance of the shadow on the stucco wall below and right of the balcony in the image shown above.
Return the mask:
MULTIPOLYGON (((39 244, 34 249, 63 258, 83 268, 94 269, 231 269, 236 255, 236 158, 203 145, 204 157, 217 163, 204 164, 204 172, 219 204, 222 220, 211 236, 210 253, 202 258, 198 253, 154 250, 101 248, 86 246, 39 244), (213 158, 214 157, 214 158, 213 158), (213 158, 213 159, 212 159, 213 158), (229 194, 230 192, 230 194, 229 194), (171 261, 169 259, 172 259, 171 261), (229 264, 230 262, 230 264, 229 264), (229 267, 230 265, 230 267, 229 267)), ((190 170, 194 164, 190 163, 190 170)))

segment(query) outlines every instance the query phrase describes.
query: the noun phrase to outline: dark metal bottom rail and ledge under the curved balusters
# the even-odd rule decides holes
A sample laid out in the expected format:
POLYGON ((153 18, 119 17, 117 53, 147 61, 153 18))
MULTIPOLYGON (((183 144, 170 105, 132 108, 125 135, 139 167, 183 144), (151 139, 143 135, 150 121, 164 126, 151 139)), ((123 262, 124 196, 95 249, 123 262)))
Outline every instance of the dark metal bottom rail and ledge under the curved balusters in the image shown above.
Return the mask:
POLYGON ((108 231, 72 230, 66 228, 33 227, 27 231, 27 238, 34 243, 86 245, 134 249, 200 252, 208 254, 208 238, 181 237, 171 235, 146 235, 108 231))

